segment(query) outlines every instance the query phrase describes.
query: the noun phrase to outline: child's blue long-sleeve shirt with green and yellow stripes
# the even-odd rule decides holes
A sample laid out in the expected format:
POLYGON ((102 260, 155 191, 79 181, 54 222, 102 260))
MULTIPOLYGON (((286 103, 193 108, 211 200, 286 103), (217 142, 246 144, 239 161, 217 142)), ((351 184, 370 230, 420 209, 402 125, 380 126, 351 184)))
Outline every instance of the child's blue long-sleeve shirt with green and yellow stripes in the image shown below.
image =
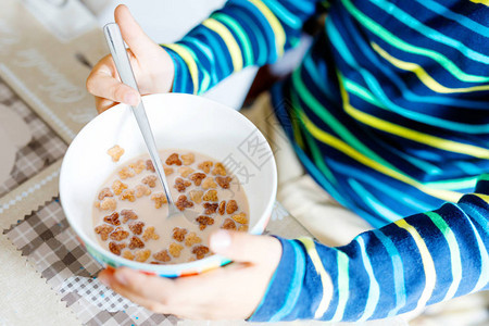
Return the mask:
POLYGON ((379 318, 488 289, 488 5, 230 0, 165 46, 173 90, 201 93, 328 12, 273 104, 311 176, 380 228, 341 248, 281 239, 252 321, 379 318))

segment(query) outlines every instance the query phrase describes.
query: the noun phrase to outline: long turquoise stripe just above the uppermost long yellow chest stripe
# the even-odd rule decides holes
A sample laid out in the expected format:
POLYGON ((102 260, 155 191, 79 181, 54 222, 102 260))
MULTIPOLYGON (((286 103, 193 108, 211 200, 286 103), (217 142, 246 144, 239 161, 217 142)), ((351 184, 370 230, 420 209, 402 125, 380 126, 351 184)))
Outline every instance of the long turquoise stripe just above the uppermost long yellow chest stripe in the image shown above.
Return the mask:
POLYGON ((410 45, 399 37, 394 36, 389 30, 381 27, 379 24, 374 22, 372 18, 366 16, 364 13, 362 13, 360 10, 358 10, 353 3, 351 3, 350 0, 342 1, 347 10, 356 17, 356 20, 364 25, 366 28, 368 28, 372 33, 384 39, 386 42, 390 43, 392 47, 396 47, 400 50, 403 50, 405 52, 415 53, 419 55, 428 57, 436 62, 438 62, 441 66, 443 66, 450 74, 452 74, 455 78, 462 82, 472 82, 472 83, 485 83, 489 80, 489 77, 482 77, 482 76, 476 76, 466 74, 463 71, 459 68, 459 66, 453 63, 451 60, 449 60, 443 54, 440 54, 436 51, 428 50, 425 48, 415 47, 413 45, 410 45))

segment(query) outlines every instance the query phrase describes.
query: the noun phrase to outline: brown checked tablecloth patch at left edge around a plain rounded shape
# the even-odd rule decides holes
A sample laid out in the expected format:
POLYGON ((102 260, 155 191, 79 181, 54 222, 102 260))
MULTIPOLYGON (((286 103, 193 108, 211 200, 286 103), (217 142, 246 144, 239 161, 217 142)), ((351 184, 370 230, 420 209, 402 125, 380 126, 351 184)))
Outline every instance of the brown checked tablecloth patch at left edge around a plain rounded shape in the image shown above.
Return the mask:
POLYGON ((66 143, 0 79, 0 104, 16 112, 28 125, 33 139, 17 151, 10 177, 0 184, 0 197, 35 176, 67 149, 66 143))

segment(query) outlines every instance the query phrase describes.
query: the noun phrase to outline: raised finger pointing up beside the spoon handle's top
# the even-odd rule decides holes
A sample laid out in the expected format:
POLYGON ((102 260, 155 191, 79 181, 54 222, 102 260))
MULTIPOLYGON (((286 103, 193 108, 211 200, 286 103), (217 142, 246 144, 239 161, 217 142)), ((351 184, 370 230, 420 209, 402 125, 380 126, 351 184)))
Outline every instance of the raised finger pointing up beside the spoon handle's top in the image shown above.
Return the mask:
POLYGON ((136 58, 148 54, 148 50, 154 47, 154 42, 142 30, 129 12, 129 9, 120 4, 114 11, 114 18, 121 28, 124 41, 129 47, 136 58))

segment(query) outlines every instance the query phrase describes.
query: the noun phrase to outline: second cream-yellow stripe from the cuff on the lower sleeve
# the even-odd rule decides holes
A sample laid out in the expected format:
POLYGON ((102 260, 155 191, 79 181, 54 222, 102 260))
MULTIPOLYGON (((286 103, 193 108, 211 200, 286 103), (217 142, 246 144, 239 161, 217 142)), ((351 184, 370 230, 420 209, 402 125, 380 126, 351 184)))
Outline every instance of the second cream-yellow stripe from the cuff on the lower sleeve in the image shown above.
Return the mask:
POLYGON ((394 222, 397 226, 405 229, 410 233, 411 237, 413 237, 414 242, 416 242, 417 249, 419 250, 419 254, 422 256, 423 268, 425 269, 425 289, 417 301, 416 311, 423 309, 428 302, 429 298, 431 298, 432 291, 435 289, 435 285, 437 283, 437 272, 435 269, 435 263, 432 262, 431 254, 429 253, 428 247, 426 247, 425 241, 419 236, 417 230, 410 225, 405 220, 399 220, 394 222))

